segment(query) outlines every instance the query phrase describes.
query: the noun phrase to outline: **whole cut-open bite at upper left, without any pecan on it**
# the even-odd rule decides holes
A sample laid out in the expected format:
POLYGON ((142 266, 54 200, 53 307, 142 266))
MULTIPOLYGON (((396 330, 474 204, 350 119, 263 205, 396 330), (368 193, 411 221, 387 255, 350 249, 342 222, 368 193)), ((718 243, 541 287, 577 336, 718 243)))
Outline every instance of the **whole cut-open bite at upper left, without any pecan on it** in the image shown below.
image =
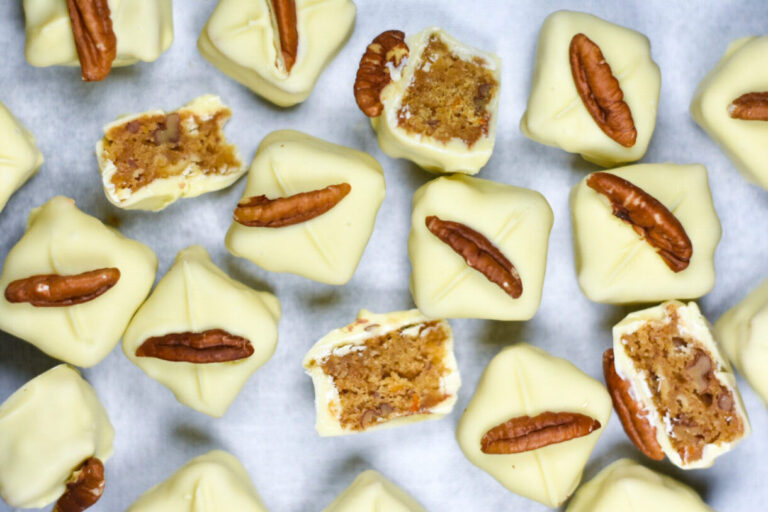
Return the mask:
POLYGON ((223 132, 231 115, 209 94, 173 112, 150 110, 106 125, 96 157, 109 202, 158 211, 179 198, 230 186, 245 173, 223 132))

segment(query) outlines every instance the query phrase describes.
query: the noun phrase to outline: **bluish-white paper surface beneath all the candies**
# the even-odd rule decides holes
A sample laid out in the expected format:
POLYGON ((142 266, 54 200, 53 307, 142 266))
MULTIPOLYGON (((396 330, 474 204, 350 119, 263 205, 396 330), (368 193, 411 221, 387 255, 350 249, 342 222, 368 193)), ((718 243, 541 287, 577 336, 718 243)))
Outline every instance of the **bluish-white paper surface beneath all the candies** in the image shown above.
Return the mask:
MULTIPOLYGON (((748 185, 688 114, 696 85, 727 44, 766 31, 764 1, 359 0, 349 43, 320 77, 309 100, 285 110, 228 79, 198 54, 197 35, 214 5, 211 0, 177 0, 175 41, 167 53, 156 63, 115 69, 103 83, 86 84, 76 68, 27 65, 21 1, 0 2, 0 101, 34 133, 46 159, 40 173, 0 214, 0 261, 21 237, 29 210, 63 194, 101 219, 118 218, 125 235, 152 247, 160 258, 158 278, 178 250, 199 243, 230 275, 272 290, 283 305, 277 352, 222 419, 177 403, 170 391, 131 364, 120 347, 84 372, 117 430, 115 456, 107 464, 107 490, 94 511, 123 510, 189 458, 215 448, 231 451, 245 464, 269 509, 278 512, 319 511, 368 468, 384 473, 428 510, 546 510, 472 466, 454 440, 454 429, 485 365, 512 343, 531 342, 602 380, 601 355, 611 343, 610 327, 629 311, 589 302, 574 275, 568 192, 596 168, 578 156, 532 142, 518 129, 538 31, 545 16, 557 9, 588 11, 651 39, 663 84, 656 132, 643 162, 705 164, 724 228, 717 250, 717 284, 700 301, 705 314, 716 320, 768 275, 768 193, 748 185), (354 102, 355 71, 366 44, 383 30, 398 28, 410 34, 429 25, 442 26, 503 60, 496 149, 479 176, 536 189, 552 205, 555 225, 541 309, 525 323, 452 321, 464 384, 453 414, 445 419, 321 439, 314 430, 312 385, 301 359, 318 338, 352 321, 361 307, 384 312, 412 306, 406 248, 411 196, 432 177, 381 153, 354 102), (333 287, 271 274, 227 253, 224 233, 244 180, 223 192, 179 201, 161 213, 122 211, 107 202, 93 155, 102 125, 123 113, 172 109, 204 93, 219 94, 231 105, 234 115, 227 132, 249 162, 259 141, 279 128, 358 148, 381 162, 387 198, 349 284, 333 287)), ((0 400, 55 364, 31 345, 0 333, 0 400)), ((740 383, 754 433, 736 450, 713 468, 699 471, 643 461, 692 485, 722 512, 765 510, 768 501, 768 415, 753 391, 740 383)), ((587 464, 585 480, 623 456, 642 460, 614 415, 587 464)), ((0 510, 10 508, 0 503, 0 510)))

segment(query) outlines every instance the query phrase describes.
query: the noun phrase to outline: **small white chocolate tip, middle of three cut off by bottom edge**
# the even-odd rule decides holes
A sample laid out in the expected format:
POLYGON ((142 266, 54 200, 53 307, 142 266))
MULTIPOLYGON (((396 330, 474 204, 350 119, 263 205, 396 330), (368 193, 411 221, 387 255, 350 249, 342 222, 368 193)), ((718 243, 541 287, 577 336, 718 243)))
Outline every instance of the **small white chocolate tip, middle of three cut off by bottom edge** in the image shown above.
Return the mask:
POLYGON ((369 469, 363 471, 323 512, 426 512, 401 488, 369 469))

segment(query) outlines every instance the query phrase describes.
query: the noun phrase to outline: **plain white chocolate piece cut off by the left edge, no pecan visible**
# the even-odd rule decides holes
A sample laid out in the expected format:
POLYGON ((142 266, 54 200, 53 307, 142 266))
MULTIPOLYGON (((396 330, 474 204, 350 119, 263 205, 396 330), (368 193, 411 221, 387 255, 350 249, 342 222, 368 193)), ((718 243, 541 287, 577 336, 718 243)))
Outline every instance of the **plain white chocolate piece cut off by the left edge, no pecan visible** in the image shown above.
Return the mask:
POLYGON ((35 138, 0 103, 0 213, 16 192, 43 164, 35 138))

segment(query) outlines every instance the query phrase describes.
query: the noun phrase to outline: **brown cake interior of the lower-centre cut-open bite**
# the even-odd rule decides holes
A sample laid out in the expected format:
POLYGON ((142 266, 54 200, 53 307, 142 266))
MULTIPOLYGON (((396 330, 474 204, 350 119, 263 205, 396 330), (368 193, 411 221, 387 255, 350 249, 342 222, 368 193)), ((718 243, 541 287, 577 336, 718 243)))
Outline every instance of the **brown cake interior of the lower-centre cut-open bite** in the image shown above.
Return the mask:
POLYGON ((322 360, 320 367, 339 392, 342 427, 365 430, 427 412, 445 400, 441 379, 449 373, 443 363, 447 341, 439 322, 427 322, 370 338, 344 355, 322 360))

